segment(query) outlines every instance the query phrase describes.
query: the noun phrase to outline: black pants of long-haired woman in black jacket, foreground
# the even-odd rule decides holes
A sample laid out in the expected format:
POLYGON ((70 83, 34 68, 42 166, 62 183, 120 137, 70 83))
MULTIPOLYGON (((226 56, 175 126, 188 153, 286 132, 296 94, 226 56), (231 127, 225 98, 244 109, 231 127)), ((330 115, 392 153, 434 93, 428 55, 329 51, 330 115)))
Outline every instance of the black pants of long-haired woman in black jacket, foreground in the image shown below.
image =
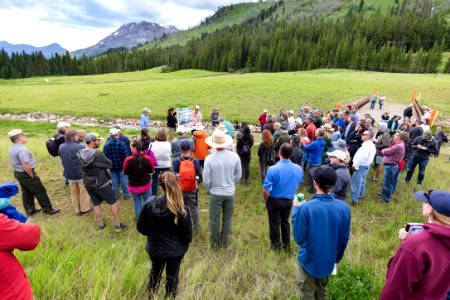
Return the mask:
POLYGON ((152 270, 148 283, 148 294, 151 297, 159 287, 164 266, 166 267, 166 298, 175 297, 178 289, 178 274, 183 256, 178 257, 150 257, 152 270))

